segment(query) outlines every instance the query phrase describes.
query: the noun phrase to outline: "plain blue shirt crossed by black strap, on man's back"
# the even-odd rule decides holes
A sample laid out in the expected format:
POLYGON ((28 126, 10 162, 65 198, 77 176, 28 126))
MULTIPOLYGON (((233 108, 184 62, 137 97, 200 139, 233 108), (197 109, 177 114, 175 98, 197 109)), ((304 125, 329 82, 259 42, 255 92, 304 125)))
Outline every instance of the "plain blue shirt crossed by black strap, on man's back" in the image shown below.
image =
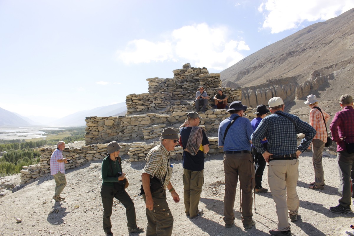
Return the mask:
POLYGON ((239 117, 230 126, 227 131, 225 141, 224 133, 226 127, 238 114, 231 114, 230 117, 223 120, 219 125, 219 146, 224 146, 224 151, 251 151, 251 134, 253 133, 253 128, 249 119, 245 117, 239 117))

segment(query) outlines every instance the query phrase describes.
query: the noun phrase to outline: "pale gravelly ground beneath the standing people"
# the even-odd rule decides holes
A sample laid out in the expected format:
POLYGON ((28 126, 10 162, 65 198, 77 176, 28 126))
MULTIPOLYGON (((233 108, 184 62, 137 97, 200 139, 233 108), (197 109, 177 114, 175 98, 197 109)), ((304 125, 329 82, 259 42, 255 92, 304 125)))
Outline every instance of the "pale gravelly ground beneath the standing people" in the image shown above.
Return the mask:
MULTIPOLYGON (((123 156, 123 159, 128 159, 123 156)), ((253 210, 255 227, 244 230, 241 223, 239 187, 235 200, 235 226, 227 229, 223 221, 223 197, 225 176, 223 172, 222 155, 208 156, 205 161, 205 183, 201 194, 199 207, 204 209, 204 215, 189 219, 184 214, 182 162, 172 160, 174 174, 171 182, 181 197, 181 202, 175 203, 167 193, 167 201, 175 219, 173 234, 184 235, 269 235, 269 229, 276 228, 278 219, 275 205, 270 192, 256 194, 256 211, 253 210)), ((308 189, 313 182, 312 153, 305 152, 299 159, 299 180, 297 192, 300 198, 299 217, 291 223, 293 235, 346 235, 353 224, 354 214, 335 214, 328 209, 338 204, 339 185, 336 157, 324 152, 324 169, 326 187, 324 190, 308 189)), ((124 160, 122 167, 127 173, 130 185, 129 195, 135 202, 138 226, 146 228, 145 204, 138 196, 141 185, 141 170, 145 162, 128 162, 124 160)), ((263 187, 268 188, 267 168, 263 175, 263 187)), ((15 175, 16 176, 16 175, 15 175)), ((10 178, 10 177, 9 177, 10 178)), ((13 178, 13 177, 11 177, 13 178)), ((3 181, 4 179, 2 179, 3 181)), ((35 182, 24 186, 12 194, 0 199, 0 235, 6 236, 103 236, 102 230, 102 202, 101 189, 101 162, 93 161, 85 166, 67 172, 68 185, 62 196, 65 201, 59 203, 52 200, 54 180, 51 175, 38 178, 35 182), (16 218, 22 221, 17 223, 16 218)), ((125 209, 114 201, 112 215, 112 231, 115 236, 129 235, 126 226, 125 209)), ((138 235, 138 234, 131 234, 138 235)), ((146 235, 145 232, 139 235, 146 235)))

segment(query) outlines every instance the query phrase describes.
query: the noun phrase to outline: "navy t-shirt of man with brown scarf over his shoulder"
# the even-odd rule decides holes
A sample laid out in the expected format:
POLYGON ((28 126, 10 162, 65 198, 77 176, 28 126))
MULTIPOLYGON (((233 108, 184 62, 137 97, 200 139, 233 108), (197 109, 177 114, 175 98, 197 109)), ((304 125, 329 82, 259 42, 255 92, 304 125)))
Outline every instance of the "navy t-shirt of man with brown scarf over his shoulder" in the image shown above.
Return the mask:
MULTIPOLYGON (((182 127, 179 129, 179 133, 181 134, 181 139, 182 139, 182 147, 183 150, 185 149, 185 146, 187 145, 188 138, 190 131, 192 131, 192 127, 182 127)), ((203 140, 201 142, 201 145, 207 145, 209 144, 208 137, 206 137, 206 134, 204 130, 202 130, 203 133, 203 140)), ((190 171, 201 171, 204 169, 204 152, 199 150, 195 156, 190 155, 189 152, 183 151, 183 168, 189 169, 190 171)))

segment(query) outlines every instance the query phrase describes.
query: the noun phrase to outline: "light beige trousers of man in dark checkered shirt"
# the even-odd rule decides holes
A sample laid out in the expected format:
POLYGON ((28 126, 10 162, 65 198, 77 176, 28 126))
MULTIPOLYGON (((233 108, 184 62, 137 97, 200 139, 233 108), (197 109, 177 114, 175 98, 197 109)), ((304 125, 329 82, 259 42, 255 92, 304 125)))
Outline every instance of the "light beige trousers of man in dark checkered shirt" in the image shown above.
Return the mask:
POLYGON ((269 162, 268 184, 278 215, 278 230, 290 230, 287 211, 295 215, 300 206, 296 192, 299 178, 299 162, 295 160, 274 160, 269 162))

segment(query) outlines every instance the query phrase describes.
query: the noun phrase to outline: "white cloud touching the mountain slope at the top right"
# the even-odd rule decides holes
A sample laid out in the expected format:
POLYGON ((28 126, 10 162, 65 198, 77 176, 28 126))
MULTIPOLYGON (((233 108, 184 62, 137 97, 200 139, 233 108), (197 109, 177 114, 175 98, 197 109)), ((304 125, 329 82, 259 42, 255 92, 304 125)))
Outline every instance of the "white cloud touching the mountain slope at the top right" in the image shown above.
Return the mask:
POLYGON ((304 21, 326 21, 354 7, 353 0, 267 0, 258 7, 265 20, 263 29, 272 34, 302 27, 304 21))

